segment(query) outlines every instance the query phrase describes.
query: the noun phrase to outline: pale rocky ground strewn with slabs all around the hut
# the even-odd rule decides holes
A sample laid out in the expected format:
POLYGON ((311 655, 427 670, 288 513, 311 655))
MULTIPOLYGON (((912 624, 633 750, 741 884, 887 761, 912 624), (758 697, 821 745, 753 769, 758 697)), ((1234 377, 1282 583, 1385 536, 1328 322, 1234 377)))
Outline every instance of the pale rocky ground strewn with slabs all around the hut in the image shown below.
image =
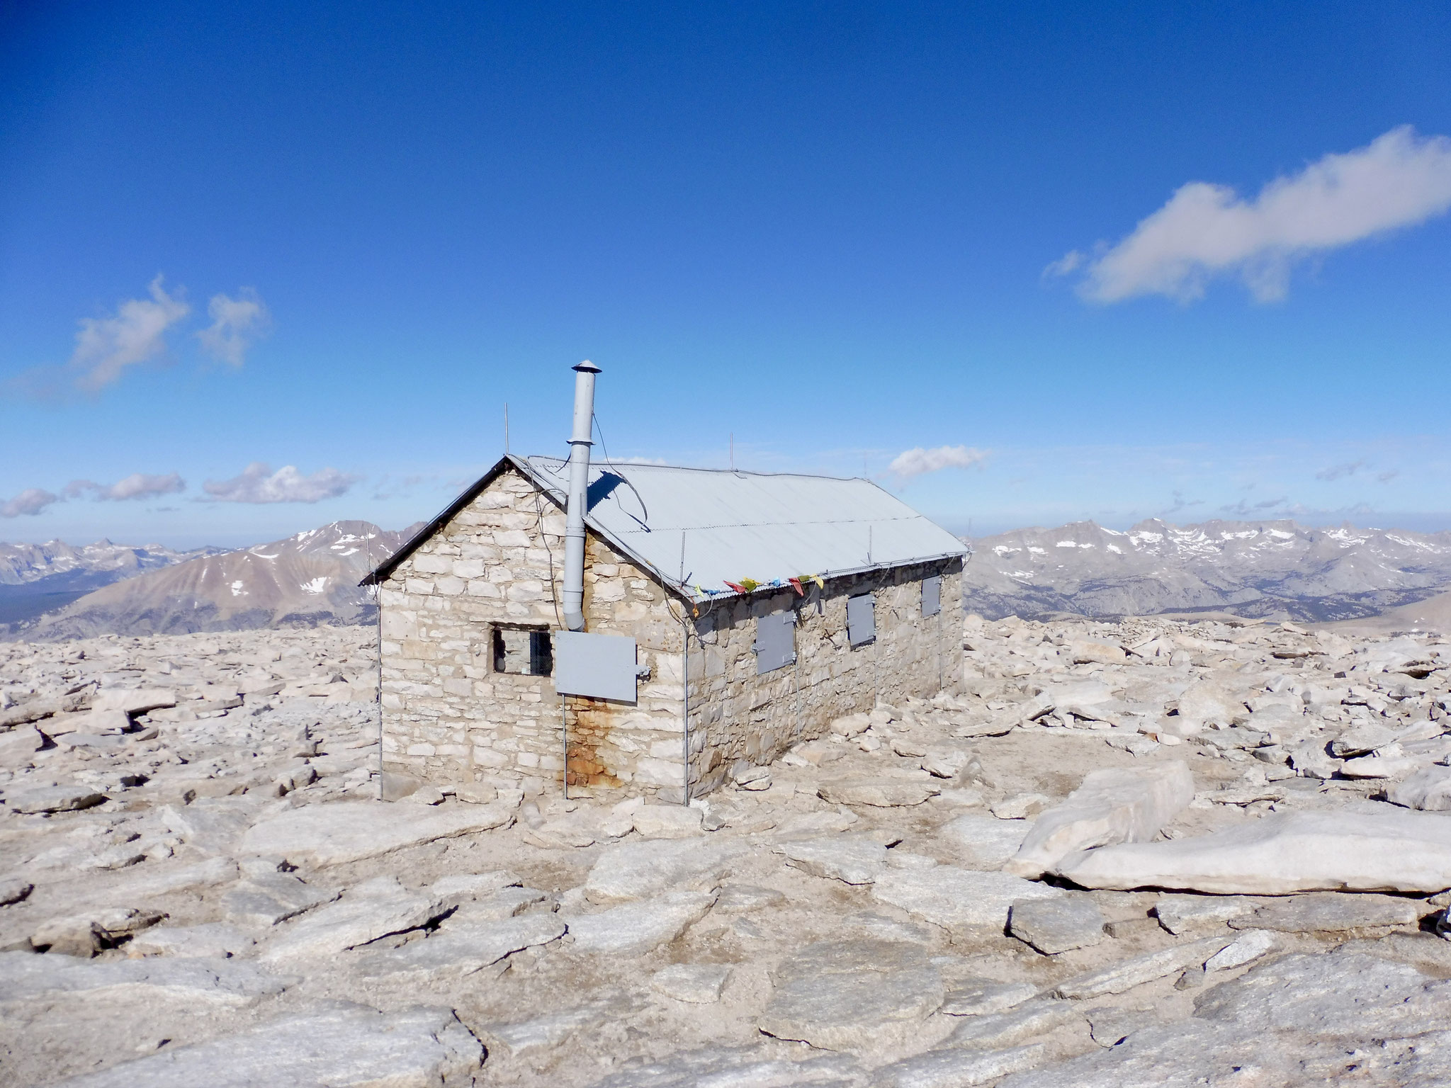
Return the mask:
POLYGON ((0 1081, 1451 1081, 1445 644, 969 618, 685 808, 374 801, 370 637, 0 648, 0 1081))

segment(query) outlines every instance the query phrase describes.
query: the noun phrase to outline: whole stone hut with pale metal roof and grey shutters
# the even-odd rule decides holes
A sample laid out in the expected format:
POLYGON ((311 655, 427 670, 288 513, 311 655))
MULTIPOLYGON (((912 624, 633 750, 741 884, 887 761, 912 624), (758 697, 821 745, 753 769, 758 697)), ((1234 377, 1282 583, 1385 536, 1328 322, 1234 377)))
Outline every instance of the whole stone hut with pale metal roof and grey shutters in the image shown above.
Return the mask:
POLYGON ((843 714, 958 685, 966 550, 862 479, 586 451, 567 624, 570 466, 505 456, 364 579, 392 795, 685 801, 843 714))

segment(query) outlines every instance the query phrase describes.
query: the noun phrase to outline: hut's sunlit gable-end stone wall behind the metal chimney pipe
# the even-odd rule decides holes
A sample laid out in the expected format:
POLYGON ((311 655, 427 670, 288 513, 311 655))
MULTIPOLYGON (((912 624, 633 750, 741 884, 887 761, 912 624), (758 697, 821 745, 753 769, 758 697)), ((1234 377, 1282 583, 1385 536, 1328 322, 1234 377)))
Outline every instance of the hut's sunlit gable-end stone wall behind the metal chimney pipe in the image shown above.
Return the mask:
MULTIPOLYGON (((493 628, 562 627, 564 512, 505 470, 385 580, 383 769, 450 785, 560 788, 548 676, 493 672, 493 628)), ((634 706, 570 696, 570 782, 654 794, 683 778, 681 605, 591 535, 585 619, 636 638, 650 669, 634 706)), ((512 667, 512 664, 511 664, 512 667)))

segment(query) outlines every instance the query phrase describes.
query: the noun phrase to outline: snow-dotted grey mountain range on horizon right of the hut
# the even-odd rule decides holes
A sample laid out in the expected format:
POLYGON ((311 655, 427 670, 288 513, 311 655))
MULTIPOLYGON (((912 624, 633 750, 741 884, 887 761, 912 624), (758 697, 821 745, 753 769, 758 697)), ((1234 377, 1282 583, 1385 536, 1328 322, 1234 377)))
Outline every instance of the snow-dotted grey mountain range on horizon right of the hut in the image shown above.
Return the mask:
POLYGON ((965 605, 992 619, 1213 611, 1323 622, 1451 586, 1451 532, 1159 519, 1119 532, 1080 521, 968 543, 965 605))

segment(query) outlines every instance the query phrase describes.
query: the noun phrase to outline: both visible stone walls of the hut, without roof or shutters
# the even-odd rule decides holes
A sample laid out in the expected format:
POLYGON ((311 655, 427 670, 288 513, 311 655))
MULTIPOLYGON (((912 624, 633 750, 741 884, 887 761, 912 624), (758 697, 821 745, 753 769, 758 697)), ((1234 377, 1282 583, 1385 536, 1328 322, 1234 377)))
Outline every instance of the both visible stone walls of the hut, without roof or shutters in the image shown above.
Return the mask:
MULTIPOLYGON (((485 782, 559 791, 566 767, 560 698, 548 676, 493 670, 493 631, 562 628, 564 512, 506 469, 418 547, 380 588, 383 769, 405 782, 485 782)), ((692 794, 740 760, 770 763, 829 722, 878 699, 955 688, 962 564, 833 579, 824 592, 731 598, 691 619, 692 794), (921 579, 942 573, 942 612, 921 615, 921 579), (846 599, 872 590, 876 638, 847 646, 846 599), (756 675, 756 618, 797 611, 797 663, 756 675)), ((631 635, 636 705, 570 696, 573 786, 679 799, 685 779, 682 617, 688 606, 605 541, 585 553, 586 630, 631 635)), ((511 669, 528 654, 506 654, 511 669)))

